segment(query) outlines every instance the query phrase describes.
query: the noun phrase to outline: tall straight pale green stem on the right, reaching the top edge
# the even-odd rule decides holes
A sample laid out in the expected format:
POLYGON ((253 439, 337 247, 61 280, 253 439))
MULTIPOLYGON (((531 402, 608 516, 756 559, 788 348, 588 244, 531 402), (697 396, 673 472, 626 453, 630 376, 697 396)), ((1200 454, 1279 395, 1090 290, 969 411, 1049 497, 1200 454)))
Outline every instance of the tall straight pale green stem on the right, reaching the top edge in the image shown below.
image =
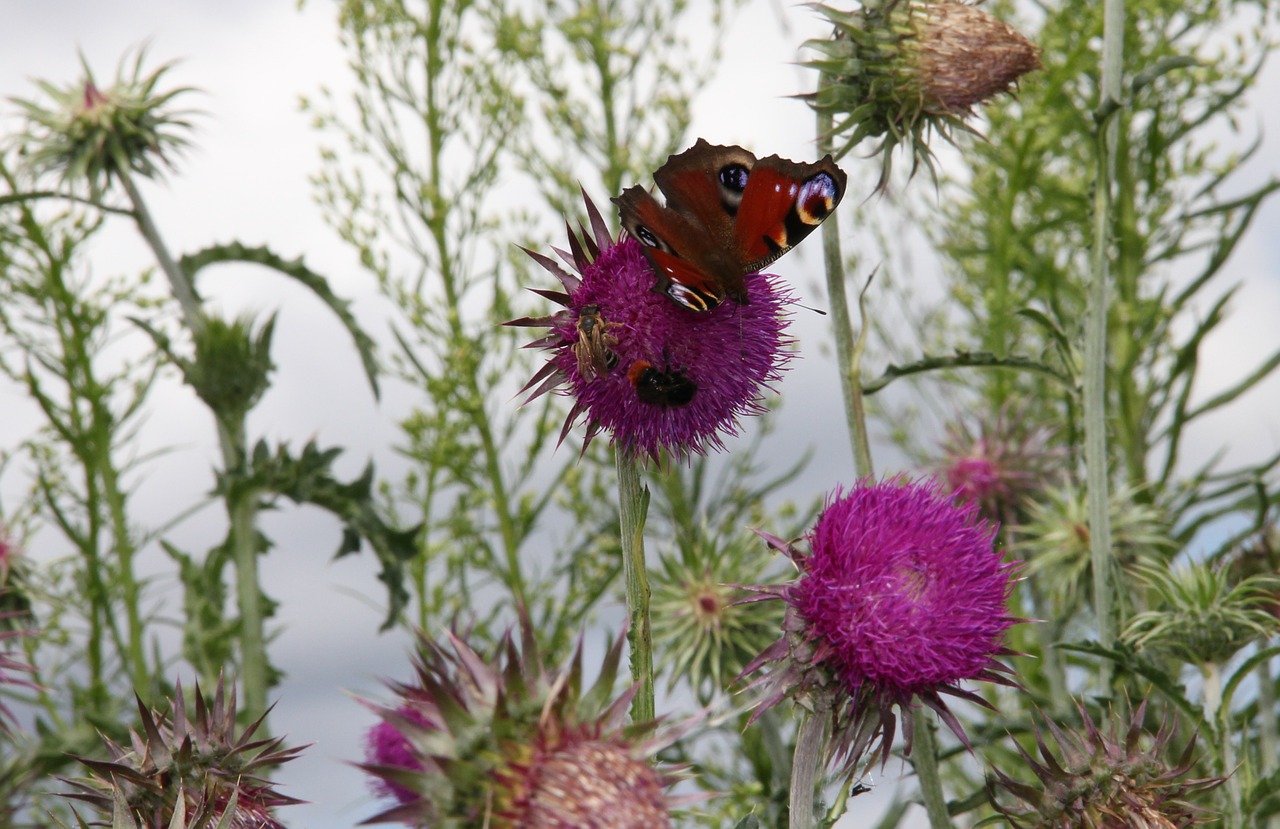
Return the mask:
MULTIPOLYGON (((1120 75, 1124 58, 1124 0, 1106 0, 1102 35, 1102 101, 1094 113, 1097 133, 1097 183, 1093 187, 1093 274, 1089 280, 1088 311, 1084 319, 1084 475, 1089 514, 1089 560, 1093 568, 1093 608, 1097 615, 1098 641, 1115 640, 1116 620, 1112 612, 1114 572, 1111 550, 1111 510, 1107 481, 1107 293, 1111 265, 1107 249, 1111 241, 1111 183, 1115 178, 1112 147, 1120 124, 1115 115, 1120 107, 1120 75)), ((1111 684, 1110 663, 1098 665, 1098 684, 1105 691, 1111 684)))

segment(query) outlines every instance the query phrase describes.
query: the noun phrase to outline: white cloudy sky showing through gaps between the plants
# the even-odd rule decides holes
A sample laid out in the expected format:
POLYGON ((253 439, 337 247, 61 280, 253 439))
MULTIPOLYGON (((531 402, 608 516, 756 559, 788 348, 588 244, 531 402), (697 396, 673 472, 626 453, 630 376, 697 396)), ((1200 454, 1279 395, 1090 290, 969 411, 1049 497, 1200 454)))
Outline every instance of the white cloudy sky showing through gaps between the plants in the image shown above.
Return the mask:
MULTIPOLYGON (((5 0, 0 9, 5 19, 0 96, 31 95, 31 78, 74 78, 77 49, 100 79, 110 77, 125 50, 145 40, 150 40, 154 60, 182 59, 173 81, 204 90, 196 102, 207 115, 200 120, 198 147, 183 161, 180 174, 146 191, 174 249, 234 239, 270 244, 285 256, 305 255, 339 293, 356 299, 357 315, 380 317, 374 287, 321 223, 307 183, 317 166, 316 139, 298 113, 298 95, 314 93, 321 84, 346 84, 344 55, 329 3, 310 0, 300 12, 292 0, 5 0)), ((762 154, 812 155, 806 145, 810 119, 801 105, 785 97, 804 88, 806 79, 797 68, 760 60, 759 55, 795 54, 796 45, 812 33, 801 28, 813 24, 805 13, 788 8, 785 14, 799 28, 782 31, 778 14, 778 4, 768 0, 754 0, 740 14, 731 29, 724 68, 708 81, 695 107, 690 139, 701 134, 762 154)), ((1270 77, 1277 77, 1275 68, 1270 77)), ((1274 90, 1275 83, 1266 88, 1274 90)), ((12 110, 0 107, 0 113, 12 110)), ((1256 113, 1251 115, 1254 123, 1271 119, 1274 136, 1280 128, 1276 109, 1256 113)), ((1254 164, 1254 178, 1275 175, 1277 166, 1277 154, 1271 150, 1254 164)), ((1212 370, 1206 372, 1202 394, 1230 383, 1260 354, 1280 347, 1277 224, 1280 210, 1272 205, 1236 258, 1244 288, 1233 306, 1230 330, 1208 348, 1212 370)), ((817 281, 817 257, 803 253, 783 260, 778 270, 808 288, 817 281)), ((102 275, 146 266, 146 249, 120 221, 96 243, 90 265, 102 275)), ((323 445, 349 446, 340 467, 346 475, 358 472, 371 455, 390 462, 387 449, 396 440, 393 422, 404 402, 375 404, 344 334, 316 301, 253 270, 210 279, 205 290, 230 312, 283 308, 276 334, 279 371, 252 418, 257 435, 294 445, 315 436, 323 445)), ((820 304, 820 298, 814 304, 820 304)), ((824 324, 815 315, 801 313, 797 325, 806 343, 823 338, 824 324)), ((788 393, 813 390, 829 406, 785 407, 780 435, 769 448, 774 457, 809 448, 823 435, 841 435, 840 450, 847 450, 838 426, 835 375, 824 359, 812 357, 815 352, 808 348, 810 357, 788 376, 788 393)), ((159 399, 146 439, 178 449, 138 482, 137 501, 152 522, 207 491, 207 472, 193 476, 187 471, 216 463, 204 409, 179 388, 166 389, 159 399)), ((1248 406, 1217 418, 1213 434, 1202 435, 1203 445, 1216 446, 1230 436, 1236 458, 1272 453, 1280 446, 1277 408, 1280 388, 1272 383, 1248 406)), ((17 393, 4 386, 0 412, 5 413, 0 440, 8 445, 29 426, 31 417, 17 393)), ((837 457, 818 464, 803 485, 820 493, 850 478, 850 462, 837 457)), ((216 516, 209 516, 175 530, 173 540, 204 549, 220 532, 216 516)), ((337 544, 333 522, 312 510, 288 509, 269 517, 268 532, 276 549, 266 557, 264 581, 282 603, 276 654, 288 673, 276 693, 280 702, 273 725, 288 733, 291 743, 316 743, 280 775, 288 793, 312 803, 282 816, 297 826, 351 826, 371 814, 372 806, 358 773, 343 765, 358 757, 358 736, 370 723, 347 692, 372 692, 379 677, 402 674, 406 641, 374 635, 380 620, 380 588, 366 572, 367 562, 329 562, 337 544)), ((152 564, 164 569, 159 558, 152 564)), ((874 796, 859 805, 865 801, 874 801, 874 796)), ((865 814, 849 823, 861 820, 865 814)))

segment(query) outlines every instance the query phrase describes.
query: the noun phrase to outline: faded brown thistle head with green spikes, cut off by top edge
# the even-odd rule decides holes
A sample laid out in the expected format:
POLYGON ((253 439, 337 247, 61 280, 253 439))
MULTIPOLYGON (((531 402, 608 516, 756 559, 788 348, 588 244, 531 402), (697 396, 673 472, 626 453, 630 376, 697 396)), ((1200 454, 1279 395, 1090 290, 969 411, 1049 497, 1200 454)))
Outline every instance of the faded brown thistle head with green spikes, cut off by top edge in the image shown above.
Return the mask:
MULTIPOLYGON (((818 58, 818 91, 803 96, 836 124, 844 155, 864 138, 879 138, 879 188, 888 183, 893 150, 911 154, 913 171, 931 170, 928 136, 950 141, 970 130, 973 107, 1011 91, 1038 69, 1039 51, 1016 29, 960 0, 863 0, 845 12, 818 4, 835 33, 805 45, 818 58)), ((972 132, 972 130, 970 130, 972 132)))

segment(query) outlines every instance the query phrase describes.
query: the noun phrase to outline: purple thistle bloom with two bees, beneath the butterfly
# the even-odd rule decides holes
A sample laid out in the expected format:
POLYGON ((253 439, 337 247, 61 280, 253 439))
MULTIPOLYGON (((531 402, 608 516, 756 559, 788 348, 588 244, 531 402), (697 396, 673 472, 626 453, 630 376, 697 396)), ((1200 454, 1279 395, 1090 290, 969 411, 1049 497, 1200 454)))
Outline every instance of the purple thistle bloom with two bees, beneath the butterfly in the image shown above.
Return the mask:
POLYGON ((556 251, 575 272, 529 251, 564 290, 536 292, 562 311, 507 324, 550 329, 530 343, 550 357, 525 390, 534 399, 559 386, 573 399, 562 440, 584 418, 588 443, 604 430, 632 455, 722 449, 740 417, 764 412, 760 397, 791 358, 791 296, 777 276, 751 274, 746 304, 689 311, 654 292, 639 242, 616 242, 590 200, 586 210, 591 232, 579 239, 571 228, 570 252, 556 251))

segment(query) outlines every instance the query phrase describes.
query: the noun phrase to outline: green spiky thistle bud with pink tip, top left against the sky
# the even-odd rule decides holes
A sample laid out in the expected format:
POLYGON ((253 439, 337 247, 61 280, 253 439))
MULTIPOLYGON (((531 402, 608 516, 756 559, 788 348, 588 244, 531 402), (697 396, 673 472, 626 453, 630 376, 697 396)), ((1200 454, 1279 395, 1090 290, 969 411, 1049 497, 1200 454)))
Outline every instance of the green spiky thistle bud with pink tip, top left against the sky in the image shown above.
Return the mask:
POLYGON ((189 87, 159 90, 172 63, 143 73, 146 49, 132 65, 120 61, 115 83, 99 87, 84 56, 84 77, 67 87, 40 82, 49 104, 17 100, 27 119, 20 146, 35 173, 56 173, 68 184, 84 183, 100 197, 114 179, 137 173, 156 178, 173 166, 173 156, 188 141, 189 110, 173 102, 189 87))

